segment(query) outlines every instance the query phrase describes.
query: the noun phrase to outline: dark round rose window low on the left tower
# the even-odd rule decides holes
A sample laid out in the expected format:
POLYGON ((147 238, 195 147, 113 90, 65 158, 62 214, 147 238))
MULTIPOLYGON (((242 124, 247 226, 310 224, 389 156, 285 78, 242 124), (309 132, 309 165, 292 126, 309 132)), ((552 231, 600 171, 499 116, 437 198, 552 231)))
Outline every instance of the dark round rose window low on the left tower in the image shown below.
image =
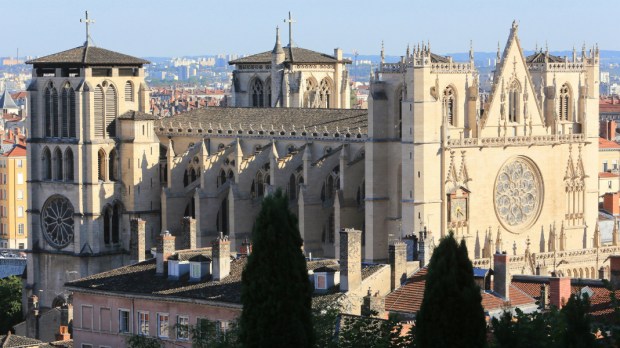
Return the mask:
POLYGON ((73 241, 73 206, 62 196, 53 196, 41 211, 41 227, 47 242, 54 248, 64 248, 73 241))

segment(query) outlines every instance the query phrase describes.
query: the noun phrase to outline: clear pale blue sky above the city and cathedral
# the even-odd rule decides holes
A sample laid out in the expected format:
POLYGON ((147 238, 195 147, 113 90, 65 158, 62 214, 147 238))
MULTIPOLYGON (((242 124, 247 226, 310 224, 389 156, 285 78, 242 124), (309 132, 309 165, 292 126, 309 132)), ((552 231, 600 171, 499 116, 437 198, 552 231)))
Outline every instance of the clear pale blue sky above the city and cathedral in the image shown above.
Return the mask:
POLYGON ((179 57, 271 50, 275 27, 288 43, 333 53, 404 55, 407 44, 430 41, 439 54, 494 52, 513 20, 524 49, 580 50, 598 43, 620 50, 620 1, 601 0, 19 0, 2 1, 0 56, 43 56, 85 40, 84 11, 95 20, 98 47, 138 57, 179 57), (7 15, 9 14, 9 15, 7 15))

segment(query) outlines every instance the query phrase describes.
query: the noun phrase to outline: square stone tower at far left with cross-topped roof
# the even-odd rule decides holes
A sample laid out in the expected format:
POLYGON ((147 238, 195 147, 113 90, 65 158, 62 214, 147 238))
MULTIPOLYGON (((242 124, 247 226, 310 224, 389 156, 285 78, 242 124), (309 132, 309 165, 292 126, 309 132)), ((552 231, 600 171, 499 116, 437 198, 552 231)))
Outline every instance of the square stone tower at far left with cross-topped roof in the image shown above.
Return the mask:
MULTIPOLYGON (((92 20, 86 19, 86 24, 92 20)), ((129 220, 158 231, 159 142, 144 64, 84 45, 27 62, 30 231, 24 296, 54 304, 64 283, 129 262, 129 220)))

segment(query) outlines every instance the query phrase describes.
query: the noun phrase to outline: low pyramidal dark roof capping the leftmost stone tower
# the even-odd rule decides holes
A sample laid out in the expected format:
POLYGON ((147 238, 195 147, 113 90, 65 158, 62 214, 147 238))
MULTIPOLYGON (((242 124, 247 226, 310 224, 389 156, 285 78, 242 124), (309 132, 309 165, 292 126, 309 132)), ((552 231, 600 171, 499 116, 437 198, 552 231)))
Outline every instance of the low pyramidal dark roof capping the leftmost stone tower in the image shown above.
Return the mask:
POLYGON ((79 64, 79 65, 144 65, 148 60, 132 57, 104 48, 94 46, 79 46, 70 50, 50 54, 48 56, 31 59, 26 64, 79 64))

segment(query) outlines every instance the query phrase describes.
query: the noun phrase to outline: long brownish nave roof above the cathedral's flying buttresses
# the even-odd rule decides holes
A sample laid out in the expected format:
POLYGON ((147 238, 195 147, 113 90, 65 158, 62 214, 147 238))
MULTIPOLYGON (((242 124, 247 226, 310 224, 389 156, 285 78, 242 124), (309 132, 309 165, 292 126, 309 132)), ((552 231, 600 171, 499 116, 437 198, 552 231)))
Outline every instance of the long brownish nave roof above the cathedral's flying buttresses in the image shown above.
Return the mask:
MULTIPOLYGON (((194 109, 180 113, 174 117, 161 119, 158 132, 166 133, 169 128, 177 130, 179 123, 183 127, 190 124, 193 128, 202 127, 204 133, 211 128, 214 132, 221 129, 244 130, 254 129, 258 132, 263 126, 265 131, 276 132, 286 129, 288 132, 295 129, 297 133, 302 133, 304 127, 307 132, 322 134, 325 128, 329 132, 345 133, 349 129, 352 133, 358 130, 365 134, 368 128, 368 110, 357 109, 304 109, 304 108, 232 108, 232 107, 211 107, 194 109), (173 126, 170 127, 170 124, 173 126)), ((194 132, 196 132, 194 130, 194 132)))

